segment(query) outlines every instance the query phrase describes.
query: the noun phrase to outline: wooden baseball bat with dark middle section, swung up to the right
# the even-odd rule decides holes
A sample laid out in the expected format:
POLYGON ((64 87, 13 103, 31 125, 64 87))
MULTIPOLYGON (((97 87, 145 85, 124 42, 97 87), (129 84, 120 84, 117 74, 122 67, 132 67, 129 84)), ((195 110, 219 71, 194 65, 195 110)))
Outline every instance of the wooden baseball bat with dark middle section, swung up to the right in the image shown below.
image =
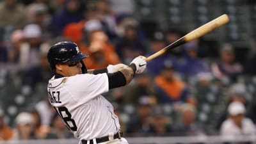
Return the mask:
POLYGON ((179 40, 176 40, 170 45, 167 45, 160 51, 155 52, 151 56, 148 56, 146 58, 146 61, 150 61, 157 56, 161 56, 169 49, 173 49, 175 47, 178 47, 179 45, 185 44, 187 42, 191 42, 192 40, 195 40, 196 38, 200 38, 201 36, 209 33, 210 31, 219 28, 229 22, 229 18, 227 14, 221 15, 220 17, 217 17, 214 20, 211 20, 210 22, 207 22, 203 26, 200 26, 199 28, 196 28, 195 30, 189 32, 187 35, 183 36, 182 38, 179 38, 179 40))

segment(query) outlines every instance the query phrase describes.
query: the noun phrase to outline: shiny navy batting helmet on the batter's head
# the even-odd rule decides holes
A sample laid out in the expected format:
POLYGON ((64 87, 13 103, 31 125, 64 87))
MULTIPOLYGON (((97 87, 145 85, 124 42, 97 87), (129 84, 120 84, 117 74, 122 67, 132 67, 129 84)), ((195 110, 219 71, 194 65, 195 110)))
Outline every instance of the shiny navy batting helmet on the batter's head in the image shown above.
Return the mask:
POLYGON ((79 47, 74 42, 58 42, 57 44, 51 46, 47 54, 47 59, 52 70, 55 70, 55 65, 58 63, 66 63, 68 61, 81 61, 83 65, 83 73, 86 72, 83 59, 87 57, 88 55, 82 54, 79 51, 79 47))

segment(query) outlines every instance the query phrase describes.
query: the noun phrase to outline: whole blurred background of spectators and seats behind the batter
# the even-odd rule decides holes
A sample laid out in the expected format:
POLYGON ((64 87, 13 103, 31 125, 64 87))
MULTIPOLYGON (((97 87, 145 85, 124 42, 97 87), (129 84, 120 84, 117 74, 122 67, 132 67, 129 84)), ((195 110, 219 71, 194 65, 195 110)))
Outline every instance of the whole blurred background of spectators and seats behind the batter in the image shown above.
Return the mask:
POLYGON ((255 136, 256 1, 1 0, 0 141, 74 139, 47 98, 52 44, 76 42, 88 69, 129 65, 224 13, 227 25, 149 61, 104 96, 124 136, 142 138, 133 143, 255 136))

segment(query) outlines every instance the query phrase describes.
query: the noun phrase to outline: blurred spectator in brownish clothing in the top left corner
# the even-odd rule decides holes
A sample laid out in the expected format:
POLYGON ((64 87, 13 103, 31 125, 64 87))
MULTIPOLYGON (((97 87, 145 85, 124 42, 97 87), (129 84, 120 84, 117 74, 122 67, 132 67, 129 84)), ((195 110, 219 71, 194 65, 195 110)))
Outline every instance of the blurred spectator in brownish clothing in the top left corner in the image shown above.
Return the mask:
POLYGON ((0 3, 0 27, 10 26, 21 29, 26 24, 24 6, 17 0, 4 0, 0 3))

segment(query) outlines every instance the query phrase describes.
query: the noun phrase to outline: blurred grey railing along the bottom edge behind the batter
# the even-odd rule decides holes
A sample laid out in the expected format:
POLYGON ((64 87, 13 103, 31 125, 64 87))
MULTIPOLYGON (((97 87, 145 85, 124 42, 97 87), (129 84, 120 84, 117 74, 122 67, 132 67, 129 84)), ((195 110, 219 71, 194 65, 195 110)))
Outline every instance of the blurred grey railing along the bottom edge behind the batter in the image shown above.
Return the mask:
MULTIPOLYGON (((174 143, 256 143, 253 136, 174 136, 174 137, 136 137, 126 138, 129 144, 174 144, 174 143)), ((61 140, 12 140, 1 141, 0 144, 78 144, 76 139, 61 140)))

